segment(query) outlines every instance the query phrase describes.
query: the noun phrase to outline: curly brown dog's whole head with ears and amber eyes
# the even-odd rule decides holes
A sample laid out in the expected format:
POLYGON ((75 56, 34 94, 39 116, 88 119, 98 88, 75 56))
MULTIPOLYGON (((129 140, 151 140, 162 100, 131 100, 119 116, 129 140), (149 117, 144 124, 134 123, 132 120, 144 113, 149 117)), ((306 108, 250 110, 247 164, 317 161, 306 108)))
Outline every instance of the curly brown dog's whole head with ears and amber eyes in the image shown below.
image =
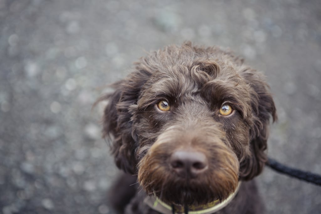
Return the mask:
POLYGON ((217 47, 169 46, 114 85, 103 118, 117 167, 177 204, 225 199, 260 174, 270 117, 264 76, 217 47))

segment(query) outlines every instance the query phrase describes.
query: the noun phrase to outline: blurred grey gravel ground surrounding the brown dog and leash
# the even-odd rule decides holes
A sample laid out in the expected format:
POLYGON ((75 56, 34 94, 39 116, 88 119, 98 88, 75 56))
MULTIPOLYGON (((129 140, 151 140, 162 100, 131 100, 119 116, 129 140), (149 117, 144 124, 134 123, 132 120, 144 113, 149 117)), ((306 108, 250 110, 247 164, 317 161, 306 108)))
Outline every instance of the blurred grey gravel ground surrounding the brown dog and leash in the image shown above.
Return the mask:
MULTIPOLYGON (((0 0, 0 213, 113 213, 92 104, 146 51, 185 40, 264 71, 269 156, 321 173, 320 0, 0 0)), ((267 213, 321 213, 320 187, 267 167, 256 180, 267 213)))

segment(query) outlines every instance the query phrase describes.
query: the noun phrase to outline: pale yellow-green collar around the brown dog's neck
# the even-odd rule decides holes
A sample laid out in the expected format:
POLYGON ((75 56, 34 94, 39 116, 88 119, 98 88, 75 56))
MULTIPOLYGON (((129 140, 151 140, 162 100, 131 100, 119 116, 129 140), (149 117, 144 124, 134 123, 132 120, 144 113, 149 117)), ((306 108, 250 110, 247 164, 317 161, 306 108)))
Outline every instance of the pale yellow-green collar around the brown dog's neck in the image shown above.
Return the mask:
MULTIPOLYGON (((235 190, 234 193, 230 194, 230 196, 225 199, 224 201, 216 200, 211 203, 202 205, 202 206, 189 206, 188 207, 188 214, 210 214, 217 212, 221 209, 223 209, 226 205, 228 205, 235 195, 239 192, 239 188, 241 186, 241 182, 239 181, 239 184, 235 190)), ((147 204, 150 208, 153 210, 156 210, 162 214, 184 214, 184 206, 180 205, 169 205, 166 204, 165 202, 161 201, 157 196, 155 195, 150 195, 147 196, 144 199, 144 203, 147 204), (174 212, 173 212, 174 210, 174 212)))

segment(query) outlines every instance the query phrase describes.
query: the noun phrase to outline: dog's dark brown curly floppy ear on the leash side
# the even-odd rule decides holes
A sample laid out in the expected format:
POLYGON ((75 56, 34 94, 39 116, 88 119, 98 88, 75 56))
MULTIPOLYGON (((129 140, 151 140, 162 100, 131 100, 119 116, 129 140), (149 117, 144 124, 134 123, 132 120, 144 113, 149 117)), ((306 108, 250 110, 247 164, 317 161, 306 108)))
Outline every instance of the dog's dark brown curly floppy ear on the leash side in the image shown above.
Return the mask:
POLYGON ((277 120, 273 98, 266 84, 265 76, 245 68, 239 73, 251 88, 253 124, 250 130, 250 156, 240 163, 240 179, 251 180, 259 175, 267 161, 265 150, 269 135, 270 118, 277 120))

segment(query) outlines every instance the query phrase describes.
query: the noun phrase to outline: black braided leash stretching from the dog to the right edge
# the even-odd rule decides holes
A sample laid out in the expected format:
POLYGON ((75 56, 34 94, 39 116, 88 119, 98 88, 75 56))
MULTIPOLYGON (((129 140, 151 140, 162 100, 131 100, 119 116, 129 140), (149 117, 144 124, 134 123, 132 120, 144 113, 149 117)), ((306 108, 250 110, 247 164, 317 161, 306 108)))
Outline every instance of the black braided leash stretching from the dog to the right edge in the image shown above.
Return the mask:
POLYGON ((304 180, 304 181, 321 186, 321 175, 287 167, 272 158, 268 158, 266 165, 282 174, 289 175, 291 177, 295 177, 300 180, 304 180))

